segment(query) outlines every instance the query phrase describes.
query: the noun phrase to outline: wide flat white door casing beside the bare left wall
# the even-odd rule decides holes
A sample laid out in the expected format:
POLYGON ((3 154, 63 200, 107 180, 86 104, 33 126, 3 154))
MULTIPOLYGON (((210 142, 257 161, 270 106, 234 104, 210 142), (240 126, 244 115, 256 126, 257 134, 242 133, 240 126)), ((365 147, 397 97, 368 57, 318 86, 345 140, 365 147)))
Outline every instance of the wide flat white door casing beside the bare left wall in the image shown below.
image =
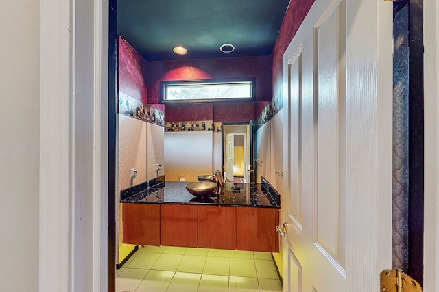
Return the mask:
POLYGON ((71 2, 40 0, 39 291, 71 291, 71 2))

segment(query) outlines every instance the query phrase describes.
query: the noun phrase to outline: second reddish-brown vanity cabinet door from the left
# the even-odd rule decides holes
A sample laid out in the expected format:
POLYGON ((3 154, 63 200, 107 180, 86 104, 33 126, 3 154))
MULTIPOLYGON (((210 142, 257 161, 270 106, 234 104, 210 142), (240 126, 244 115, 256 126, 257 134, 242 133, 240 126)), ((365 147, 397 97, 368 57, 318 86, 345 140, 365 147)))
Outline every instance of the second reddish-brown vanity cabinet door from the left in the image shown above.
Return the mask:
POLYGON ((161 205, 161 245, 197 246, 197 207, 180 204, 161 205))

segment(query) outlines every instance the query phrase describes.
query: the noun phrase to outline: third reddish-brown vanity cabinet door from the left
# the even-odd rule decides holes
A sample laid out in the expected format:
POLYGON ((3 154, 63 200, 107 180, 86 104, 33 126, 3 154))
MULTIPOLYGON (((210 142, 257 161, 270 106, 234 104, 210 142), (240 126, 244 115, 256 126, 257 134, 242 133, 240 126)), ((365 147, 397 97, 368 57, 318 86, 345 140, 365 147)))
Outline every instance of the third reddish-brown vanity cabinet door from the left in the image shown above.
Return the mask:
POLYGON ((236 249, 236 207, 198 206, 198 247, 236 249))

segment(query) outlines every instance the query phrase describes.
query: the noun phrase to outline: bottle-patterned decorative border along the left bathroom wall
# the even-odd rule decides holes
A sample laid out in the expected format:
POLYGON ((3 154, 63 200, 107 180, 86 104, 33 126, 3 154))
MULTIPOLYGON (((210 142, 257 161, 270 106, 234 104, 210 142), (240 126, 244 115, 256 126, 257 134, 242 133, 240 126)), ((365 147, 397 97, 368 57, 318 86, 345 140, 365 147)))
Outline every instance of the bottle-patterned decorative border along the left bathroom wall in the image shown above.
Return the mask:
POLYGON ((145 105, 123 92, 119 92, 117 99, 117 113, 143 120, 143 122, 165 126, 165 113, 163 111, 145 105))

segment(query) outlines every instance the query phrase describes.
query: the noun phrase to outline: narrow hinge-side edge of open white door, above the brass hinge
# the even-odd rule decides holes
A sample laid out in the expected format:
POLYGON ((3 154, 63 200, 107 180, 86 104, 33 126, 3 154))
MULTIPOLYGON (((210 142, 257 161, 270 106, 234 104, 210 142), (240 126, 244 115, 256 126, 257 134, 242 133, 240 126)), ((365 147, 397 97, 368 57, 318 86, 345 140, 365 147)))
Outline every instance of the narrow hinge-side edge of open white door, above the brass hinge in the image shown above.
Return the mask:
POLYGON ((392 268, 392 127, 393 116, 388 114, 393 108, 393 4, 378 1, 377 40, 377 163, 379 209, 377 210, 377 263, 376 280, 379 272, 392 268))

